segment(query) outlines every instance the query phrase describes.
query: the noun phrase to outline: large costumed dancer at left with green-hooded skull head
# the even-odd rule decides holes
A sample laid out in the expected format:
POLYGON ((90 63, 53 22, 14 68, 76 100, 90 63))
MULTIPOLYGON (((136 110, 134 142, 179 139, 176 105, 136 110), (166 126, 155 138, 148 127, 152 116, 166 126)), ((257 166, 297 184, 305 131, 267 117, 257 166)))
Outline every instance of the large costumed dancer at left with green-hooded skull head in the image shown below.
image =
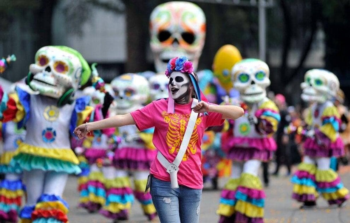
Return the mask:
POLYGON ((2 121, 15 121, 27 130, 11 166, 20 166, 27 187, 21 222, 68 222, 68 203, 62 193, 68 174, 81 172, 71 149, 69 134, 82 124, 92 108, 73 100, 90 77, 82 55, 67 46, 44 46, 29 66, 26 83, 38 94, 16 88, 2 97, 2 121))

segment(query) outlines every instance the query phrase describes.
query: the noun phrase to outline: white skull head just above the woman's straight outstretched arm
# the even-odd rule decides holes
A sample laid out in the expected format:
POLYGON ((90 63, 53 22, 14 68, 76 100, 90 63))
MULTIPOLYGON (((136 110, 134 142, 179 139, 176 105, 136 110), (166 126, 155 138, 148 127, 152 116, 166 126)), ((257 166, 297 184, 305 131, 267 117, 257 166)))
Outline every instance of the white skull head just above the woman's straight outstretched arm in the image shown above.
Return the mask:
POLYGON ((149 83, 145 77, 127 73, 111 81, 118 114, 126 114, 142 107, 149 97, 149 83))

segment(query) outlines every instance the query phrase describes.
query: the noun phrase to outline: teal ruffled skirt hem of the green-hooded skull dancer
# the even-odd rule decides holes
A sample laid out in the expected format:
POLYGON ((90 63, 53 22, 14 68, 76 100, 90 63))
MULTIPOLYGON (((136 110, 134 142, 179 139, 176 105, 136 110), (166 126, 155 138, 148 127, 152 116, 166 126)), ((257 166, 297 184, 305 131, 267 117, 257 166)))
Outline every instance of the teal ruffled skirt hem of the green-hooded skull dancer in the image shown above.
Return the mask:
POLYGON ((82 170, 78 165, 70 163, 68 161, 33 156, 31 154, 20 153, 12 158, 10 161, 11 166, 19 164, 23 170, 43 170, 43 171, 55 171, 64 172, 69 174, 79 174, 82 170))

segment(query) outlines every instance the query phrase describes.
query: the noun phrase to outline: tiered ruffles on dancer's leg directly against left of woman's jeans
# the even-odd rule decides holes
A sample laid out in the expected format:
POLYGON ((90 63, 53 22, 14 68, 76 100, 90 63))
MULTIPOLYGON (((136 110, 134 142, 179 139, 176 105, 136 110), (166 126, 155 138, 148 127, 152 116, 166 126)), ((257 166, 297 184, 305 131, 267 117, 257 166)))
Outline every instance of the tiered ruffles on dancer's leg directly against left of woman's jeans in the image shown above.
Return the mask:
POLYGON ((148 217, 148 220, 152 220, 156 216, 156 210, 152 202, 152 197, 149 191, 145 193, 147 179, 135 180, 135 192, 136 199, 141 203, 144 214, 148 217))

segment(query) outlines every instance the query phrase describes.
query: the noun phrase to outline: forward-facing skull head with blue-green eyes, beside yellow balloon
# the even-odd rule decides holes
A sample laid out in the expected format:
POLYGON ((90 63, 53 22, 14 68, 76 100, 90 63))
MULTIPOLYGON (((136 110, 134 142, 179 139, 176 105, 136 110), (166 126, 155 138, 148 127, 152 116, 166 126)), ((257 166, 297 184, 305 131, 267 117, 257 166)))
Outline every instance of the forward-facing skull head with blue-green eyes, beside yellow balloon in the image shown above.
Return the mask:
POLYGON ((271 84, 269 74, 270 70, 262 60, 241 60, 232 67, 233 87, 244 102, 259 102, 266 97, 266 88, 271 84))

